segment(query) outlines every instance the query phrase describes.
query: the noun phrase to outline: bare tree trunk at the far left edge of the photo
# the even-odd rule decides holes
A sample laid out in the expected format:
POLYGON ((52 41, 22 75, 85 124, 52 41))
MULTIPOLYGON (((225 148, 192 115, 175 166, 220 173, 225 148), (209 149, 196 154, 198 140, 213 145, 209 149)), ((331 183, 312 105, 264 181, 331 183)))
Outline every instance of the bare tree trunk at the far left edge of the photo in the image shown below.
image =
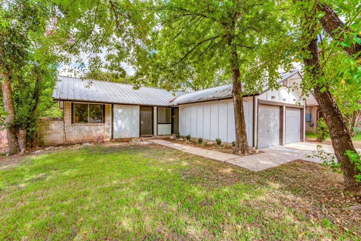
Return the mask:
POLYGON ((8 146, 9 146, 9 153, 14 154, 18 152, 18 139, 16 136, 16 130, 13 127, 14 122, 14 102, 12 99, 12 91, 10 86, 10 80, 9 76, 1 73, 1 79, 3 82, 1 83, 1 90, 3 91, 3 100, 4 100, 4 110, 7 113, 5 116, 5 122, 6 122, 6 129, 8 131, 7 139, 8 139, 8 146))

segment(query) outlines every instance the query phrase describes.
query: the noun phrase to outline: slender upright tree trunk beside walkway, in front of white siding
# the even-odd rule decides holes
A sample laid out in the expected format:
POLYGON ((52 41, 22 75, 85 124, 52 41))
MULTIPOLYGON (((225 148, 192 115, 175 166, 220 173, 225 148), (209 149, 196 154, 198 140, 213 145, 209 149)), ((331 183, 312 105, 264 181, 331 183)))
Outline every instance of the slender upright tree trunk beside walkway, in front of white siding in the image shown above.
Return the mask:
MULTIPOLYGON (((231 46, 232 39, 229 38, 228 43, 231 46)), ((238 54, 235 46, 232 46, 231 52, 231 68, 232 68, 232 99, 234 108, 234 124, 236 131, 234 154, 242 156, 249 155, 246 122, 244 120, 243 98, 242 98, 242 84, 240 82, 240 71, 238 68, 238 54)))

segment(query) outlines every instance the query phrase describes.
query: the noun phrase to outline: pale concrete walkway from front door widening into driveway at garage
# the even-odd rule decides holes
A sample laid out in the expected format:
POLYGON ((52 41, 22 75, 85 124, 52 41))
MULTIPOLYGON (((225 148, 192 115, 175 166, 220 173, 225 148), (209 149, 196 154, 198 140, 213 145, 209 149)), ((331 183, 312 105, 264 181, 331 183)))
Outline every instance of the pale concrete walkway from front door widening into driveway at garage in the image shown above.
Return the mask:
POLYGON ((188 152, 197 156, 203 156, 205 158, 217 160, 219 162, 233 164, 256 172, 271 167, 277 167, 278 165, 292 162, 293 160, 297 159, 321 163, 321 160, 318 158, 306 158, 304 156, 305 154, 311 154, 312 151, 296 150, 281 146, 262 148, 260 149, 260 151, 263 153, 260 154, 250 156, 238 156, 219 151, 205 150, 197 147, 173 143, 162 139, 150 139, 148 141, 171 147, 180 151, 188 152))

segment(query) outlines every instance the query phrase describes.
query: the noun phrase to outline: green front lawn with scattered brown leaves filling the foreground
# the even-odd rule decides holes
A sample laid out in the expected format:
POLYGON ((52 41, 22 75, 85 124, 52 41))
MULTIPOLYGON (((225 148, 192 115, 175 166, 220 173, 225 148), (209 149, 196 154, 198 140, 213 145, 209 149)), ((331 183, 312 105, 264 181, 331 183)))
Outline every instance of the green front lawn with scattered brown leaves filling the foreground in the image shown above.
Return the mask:
POLYGON ((252 172, 155 144, 67 147, 0 163, 0 240, 358 240, 341 181, 304 161, 252 172))

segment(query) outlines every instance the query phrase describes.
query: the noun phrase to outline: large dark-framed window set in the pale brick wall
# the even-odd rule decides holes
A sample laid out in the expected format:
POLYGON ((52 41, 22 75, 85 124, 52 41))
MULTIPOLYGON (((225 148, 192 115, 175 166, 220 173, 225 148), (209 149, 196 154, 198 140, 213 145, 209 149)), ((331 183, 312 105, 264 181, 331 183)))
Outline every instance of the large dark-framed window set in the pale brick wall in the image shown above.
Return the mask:
POLYGON ((74 123, 104 123, 104 105, 74 103, 74 123))

